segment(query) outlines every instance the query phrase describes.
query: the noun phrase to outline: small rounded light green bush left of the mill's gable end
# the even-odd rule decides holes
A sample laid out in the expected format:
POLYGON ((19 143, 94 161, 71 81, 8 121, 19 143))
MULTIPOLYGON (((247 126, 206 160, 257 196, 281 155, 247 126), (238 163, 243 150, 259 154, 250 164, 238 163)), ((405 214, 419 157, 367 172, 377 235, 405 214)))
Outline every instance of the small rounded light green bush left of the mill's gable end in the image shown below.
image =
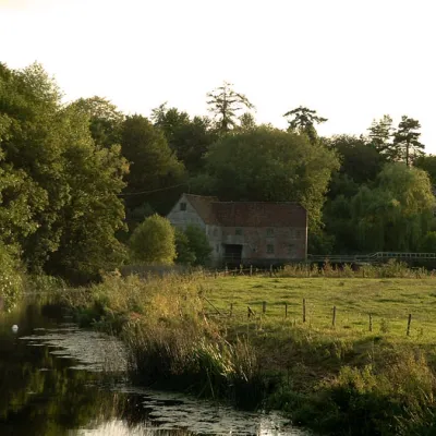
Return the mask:
POLYGON ((174 229, 167 218, 155 214, 136 227, 129 245, 134 261, 172 264, 175 258, 174 229))

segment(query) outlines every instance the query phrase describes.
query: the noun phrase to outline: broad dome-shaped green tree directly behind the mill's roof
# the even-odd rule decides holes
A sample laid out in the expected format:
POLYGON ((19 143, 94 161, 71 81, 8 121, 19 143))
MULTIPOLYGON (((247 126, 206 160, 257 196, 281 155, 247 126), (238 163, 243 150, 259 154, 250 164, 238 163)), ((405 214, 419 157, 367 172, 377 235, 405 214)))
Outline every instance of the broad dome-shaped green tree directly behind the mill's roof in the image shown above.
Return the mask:
POLYGON ((206 156, 207 174, 192 185, 223 201, 299 202, 314 229, 337 169, 336 154, 313 147, 305 135, 259 126, 215 143, 206 156))

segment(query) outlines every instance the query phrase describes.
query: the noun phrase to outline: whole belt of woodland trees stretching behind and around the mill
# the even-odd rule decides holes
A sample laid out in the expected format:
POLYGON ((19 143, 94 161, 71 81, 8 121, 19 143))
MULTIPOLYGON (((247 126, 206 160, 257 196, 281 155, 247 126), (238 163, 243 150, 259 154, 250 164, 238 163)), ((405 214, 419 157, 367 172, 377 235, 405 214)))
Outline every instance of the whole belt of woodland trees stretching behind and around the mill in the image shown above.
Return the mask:
POLYGON ((182 192, 300 202, 311 254, 436 251, 436 156, 417 120, 320 137, 315 110, 290 110, 280 130, 257 124, 232 85, 206 90, 209 117, 166 104, 128 116, 101 97, 64 104, 39 64, 0 64, 2 264, 96 279, 129 262, 134 229, 182 192))

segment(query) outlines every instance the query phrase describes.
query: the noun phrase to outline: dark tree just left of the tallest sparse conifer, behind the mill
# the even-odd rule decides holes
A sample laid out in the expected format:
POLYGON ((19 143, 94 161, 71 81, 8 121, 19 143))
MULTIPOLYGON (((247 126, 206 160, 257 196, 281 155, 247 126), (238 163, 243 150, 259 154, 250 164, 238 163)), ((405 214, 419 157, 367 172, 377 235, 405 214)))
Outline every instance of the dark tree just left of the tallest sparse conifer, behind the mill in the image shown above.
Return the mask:
POLYGON ((191 119, 186 112, 168 109, 164 104, 153 110, 152 120, 164 132, 168 145, 190 173, 203 169, 203 158, 217 137, 208 118, 191 119))

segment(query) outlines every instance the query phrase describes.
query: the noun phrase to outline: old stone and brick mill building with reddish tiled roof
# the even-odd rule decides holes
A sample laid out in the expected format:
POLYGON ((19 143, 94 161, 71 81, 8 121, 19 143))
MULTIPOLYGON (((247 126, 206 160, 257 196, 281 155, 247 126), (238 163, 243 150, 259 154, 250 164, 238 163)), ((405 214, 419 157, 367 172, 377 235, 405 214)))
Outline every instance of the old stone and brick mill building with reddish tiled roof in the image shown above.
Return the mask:
POLYGON ((182 229, 204 229, 215 266, 283 264, 307 256, 307 214, 294 203, 231 203, 183 194, 168 219, 182 229))

